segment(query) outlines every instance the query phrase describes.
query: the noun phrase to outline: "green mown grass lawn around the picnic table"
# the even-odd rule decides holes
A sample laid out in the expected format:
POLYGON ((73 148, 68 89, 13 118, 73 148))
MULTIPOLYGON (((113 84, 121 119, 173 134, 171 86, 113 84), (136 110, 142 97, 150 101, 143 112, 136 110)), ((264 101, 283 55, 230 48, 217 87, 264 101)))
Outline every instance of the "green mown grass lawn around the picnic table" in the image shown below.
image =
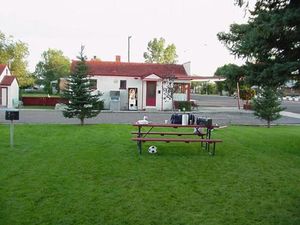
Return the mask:
POLYGON ((128 125, 0 126, 0 224, 300 224, 300 127, 143 145, 128 125))

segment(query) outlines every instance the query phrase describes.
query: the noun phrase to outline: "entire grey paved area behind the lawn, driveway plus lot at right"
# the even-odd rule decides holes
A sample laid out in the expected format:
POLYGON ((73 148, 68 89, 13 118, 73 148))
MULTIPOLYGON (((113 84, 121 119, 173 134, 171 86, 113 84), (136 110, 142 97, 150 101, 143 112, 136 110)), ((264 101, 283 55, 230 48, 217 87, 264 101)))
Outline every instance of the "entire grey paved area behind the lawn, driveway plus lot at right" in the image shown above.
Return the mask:
MULTIPOLYGON (((199 103, 197 110, 193 111, 195 116, 210 117, 214 123, 220 125, 228 124, 246 124, 259 125, 265 124, 254 117, 252 111, 238 110, 236 100, 232 97, 223 96, 199 96, 192 95, 192 99, 196 99, 199 103)), ((288 110, 295 113, 300 113, 300 102, 286 102, 288 110)), ((5 109, 0 109, 0 123, 8 123, 5 121, 5 109)), ((149 117, 149 120, 156 123, 163 123, 169 120, 172 112, 107 112, 103 111, 99 116, 92 119, 87 119, 87 124, 131 124, 143 118, 144 115, 149 117)), ((275 121, 273 124, 300 124, 300 114, 284 112, 284 116, 275 121)), ((57 110, 29 110, 20 109, 20 120, 16 123, 50 123, 50 124, 79 124, 77 119, 66 119, 61 111, 57 110)))

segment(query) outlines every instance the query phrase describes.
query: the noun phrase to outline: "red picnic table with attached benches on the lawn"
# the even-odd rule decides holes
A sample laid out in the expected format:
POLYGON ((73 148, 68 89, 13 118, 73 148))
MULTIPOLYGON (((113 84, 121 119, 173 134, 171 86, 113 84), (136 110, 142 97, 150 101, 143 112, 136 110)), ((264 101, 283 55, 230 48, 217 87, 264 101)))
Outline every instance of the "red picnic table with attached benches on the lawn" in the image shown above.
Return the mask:
POLYGON ((184 143, 192 143, 198 142, 201 143, 201 147, 203 147, 203 143, 205 143, 205 149, 208 150, 210 155, 215 155, 216 143, 222 142, 221 139, 211 139, 211 131, 218 126, 201 126, 201 125, 180 125, 180 124, 139 124, 134 123, 133 126, 138 127, 138 131, 133 131, 131 134, 136 134, 136 137, 133 137, 131 140, 137 142, 139 153, 142 153, 142 142, 184 142, 184 143), (148 131, 142 131, 142 128, 149 128, 148 131), (155 131, 153 132, 153 128, 205 128, 206 132, 170 132, 170 131, 155 131), (151 135, 151 137, 148 137, 151 135), (162 137, 152 137, 152 135, 160 135, 162 137), (170 136, 180 136, 180 138, 171 138, 170 136), (188 136, 189 138, 185 137, 188 136), (200 138, 190 138, 190 136, 196 136, 200 138), (210 145, 213 145, 213 148, 210 148, 210 145))

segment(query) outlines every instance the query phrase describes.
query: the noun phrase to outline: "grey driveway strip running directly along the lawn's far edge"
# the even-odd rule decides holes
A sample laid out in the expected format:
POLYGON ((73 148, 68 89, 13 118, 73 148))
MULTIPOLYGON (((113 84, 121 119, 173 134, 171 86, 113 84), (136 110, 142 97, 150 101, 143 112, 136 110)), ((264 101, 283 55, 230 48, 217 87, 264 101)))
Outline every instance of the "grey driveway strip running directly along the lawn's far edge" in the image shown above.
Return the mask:
MULTIPOLYGON (((0 124, 8 123, 4 120, 5 111, 0 111, 0 124)), ((96 118, 87 119, 87 124, 131 124, 147 115, 149 120, 156 123, 163 123, 169 120, 172 112, 101 112, 96 118)), ((251 111, 237 111, 235 108, 205 108, 193 111, 195 116, 210 117, 214 123, 219 125, 229 124, 245 124, 245 125, 259 125, 265 124, 254 117, 251 111)), ((77 119, 66 119, 63 117, 61 111, 55 110, 20 110, 20 120, 16 123, 32 123, 32 124, 79 124, 77 119)), ((300 118, 292 118, 284 116, 275 121, 273 124, 300 124, 300 118)))

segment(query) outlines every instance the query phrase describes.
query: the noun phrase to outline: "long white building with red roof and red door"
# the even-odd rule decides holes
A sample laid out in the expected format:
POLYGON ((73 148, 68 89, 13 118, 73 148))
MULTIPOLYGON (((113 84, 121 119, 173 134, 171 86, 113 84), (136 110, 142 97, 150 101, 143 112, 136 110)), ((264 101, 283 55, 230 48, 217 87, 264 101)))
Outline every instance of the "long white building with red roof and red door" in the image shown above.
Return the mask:
MULTIPOLYGON (((112 110, 170 110, 166 80, 173 77, 174 101, 190 100, 190 65, 127 63, 120 56, 115 62, 86 62, 95 91, 100 91, 104 108, 112 110)), ((72 68, 76 61, 72 62, 72 68)))

